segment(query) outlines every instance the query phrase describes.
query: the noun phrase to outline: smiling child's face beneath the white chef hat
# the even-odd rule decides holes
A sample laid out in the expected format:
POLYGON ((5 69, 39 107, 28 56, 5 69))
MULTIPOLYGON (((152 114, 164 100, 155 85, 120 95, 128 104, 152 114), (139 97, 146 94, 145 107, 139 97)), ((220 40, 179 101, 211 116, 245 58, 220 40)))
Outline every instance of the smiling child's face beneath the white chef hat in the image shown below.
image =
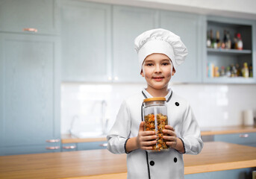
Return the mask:
POLYGON ((172 62, 165 54, 150 54, 143 63, 140 73, 148 84, 148 87, 160 90, 168 87, 168 83, 175 74, 172 62))

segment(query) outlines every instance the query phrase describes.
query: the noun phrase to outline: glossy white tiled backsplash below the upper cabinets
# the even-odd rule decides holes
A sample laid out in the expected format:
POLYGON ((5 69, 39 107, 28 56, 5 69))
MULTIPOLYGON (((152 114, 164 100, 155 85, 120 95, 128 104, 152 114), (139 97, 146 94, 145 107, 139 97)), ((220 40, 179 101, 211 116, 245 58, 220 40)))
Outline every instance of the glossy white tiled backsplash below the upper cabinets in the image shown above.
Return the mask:
MULTIPOLYGON (((146 84, 62 84, 61 134, 69 133, 71 127, 75 131, 100 134, 107 125, 108 131, 122 100, 143 87, 146 84)), ((243 110, 256 111, 256 85, 174 84, 171 87, 190 102, 201 128, 242 125, 243 110)))

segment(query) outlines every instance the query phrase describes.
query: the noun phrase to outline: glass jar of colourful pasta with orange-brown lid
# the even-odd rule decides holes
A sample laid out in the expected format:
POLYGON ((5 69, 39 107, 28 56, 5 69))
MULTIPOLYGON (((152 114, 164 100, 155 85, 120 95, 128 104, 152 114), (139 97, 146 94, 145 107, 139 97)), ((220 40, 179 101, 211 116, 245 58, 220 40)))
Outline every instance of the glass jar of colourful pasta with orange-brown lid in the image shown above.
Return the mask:
POLYGON ((146 98, 144 104, 144 131, 155 131, 157 143, 152 145, 152 151, 169 151, 169 145, 163 139, 163 129, 168 125, 166 98, 146 98))

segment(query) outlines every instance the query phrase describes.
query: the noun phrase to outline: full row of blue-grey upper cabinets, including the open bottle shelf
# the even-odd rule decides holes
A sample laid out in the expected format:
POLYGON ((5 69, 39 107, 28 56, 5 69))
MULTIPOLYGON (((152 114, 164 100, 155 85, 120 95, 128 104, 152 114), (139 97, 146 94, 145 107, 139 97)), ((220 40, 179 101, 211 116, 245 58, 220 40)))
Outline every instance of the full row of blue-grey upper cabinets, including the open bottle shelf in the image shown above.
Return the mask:
POLYGON ((61 3, 62 81, 145 82, 140 75, 134 39, 153 28, 174 32, 187 46, 189 54, 171 82, 252 84, 256 81, 254 21, 78 0, 61 3), (240 33, 243 50, 207 48, 206 34, 210 30, 214 38, 219 31, 220 40, 224 31, 229 32, 231 40, 240 33), (227 69, 238 65, 241 71, 244 63, 252 69, 251 78, 210 76, 213 72, 222 74, 222 66, 227 69))

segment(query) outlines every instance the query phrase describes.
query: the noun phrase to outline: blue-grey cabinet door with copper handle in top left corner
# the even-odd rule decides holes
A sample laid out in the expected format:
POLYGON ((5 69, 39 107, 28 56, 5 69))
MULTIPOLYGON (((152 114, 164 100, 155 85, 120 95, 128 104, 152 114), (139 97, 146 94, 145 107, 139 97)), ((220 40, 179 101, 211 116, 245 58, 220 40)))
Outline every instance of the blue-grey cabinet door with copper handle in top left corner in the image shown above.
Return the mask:
POLYGON ((37 34, 58 34, 58 0, 2 0, 0 31, 37 34))

